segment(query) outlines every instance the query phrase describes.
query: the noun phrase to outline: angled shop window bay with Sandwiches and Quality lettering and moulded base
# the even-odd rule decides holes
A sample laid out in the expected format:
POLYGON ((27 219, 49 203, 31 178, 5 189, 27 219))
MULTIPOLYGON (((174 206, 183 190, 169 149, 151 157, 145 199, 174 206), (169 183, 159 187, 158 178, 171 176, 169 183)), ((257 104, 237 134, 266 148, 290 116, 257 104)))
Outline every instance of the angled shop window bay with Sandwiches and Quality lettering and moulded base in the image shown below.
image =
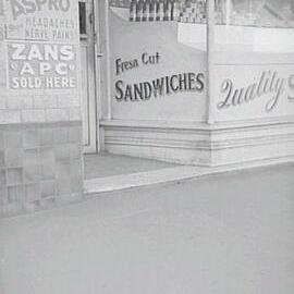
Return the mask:
POLYGON ((103 148, 228 169, 290 160, 293 10, 290 0, 110 1, 103 148))

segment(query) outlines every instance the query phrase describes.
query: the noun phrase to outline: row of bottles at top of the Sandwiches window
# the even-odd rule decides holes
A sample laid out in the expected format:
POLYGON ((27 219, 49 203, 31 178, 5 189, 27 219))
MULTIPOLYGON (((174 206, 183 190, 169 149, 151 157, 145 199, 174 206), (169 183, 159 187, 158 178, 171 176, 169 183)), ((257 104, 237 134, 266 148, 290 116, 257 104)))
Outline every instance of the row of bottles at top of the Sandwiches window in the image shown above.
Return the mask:
POLYGON ((177 0, 132 0, 130 4, 131 22, 179 21, 179 17, 177 0))

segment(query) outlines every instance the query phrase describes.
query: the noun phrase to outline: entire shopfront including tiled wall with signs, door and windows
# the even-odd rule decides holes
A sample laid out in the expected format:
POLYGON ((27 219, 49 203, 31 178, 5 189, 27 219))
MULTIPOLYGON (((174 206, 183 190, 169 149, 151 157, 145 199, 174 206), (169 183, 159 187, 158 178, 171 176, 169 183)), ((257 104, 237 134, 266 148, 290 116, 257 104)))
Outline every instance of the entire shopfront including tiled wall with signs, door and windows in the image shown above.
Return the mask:
POLYGON ((291 0, 0 0, 1 213, 83 198, 83 154, 294 156, 291 0))

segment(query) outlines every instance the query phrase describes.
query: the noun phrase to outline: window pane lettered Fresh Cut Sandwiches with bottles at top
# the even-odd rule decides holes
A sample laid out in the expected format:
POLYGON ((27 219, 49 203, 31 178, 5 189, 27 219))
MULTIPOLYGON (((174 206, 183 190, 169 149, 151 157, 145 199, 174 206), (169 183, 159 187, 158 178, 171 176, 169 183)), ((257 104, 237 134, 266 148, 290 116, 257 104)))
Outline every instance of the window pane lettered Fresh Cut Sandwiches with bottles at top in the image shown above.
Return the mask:
POLYGON ((113 119, 205 120, 205 0, 109 0, 109 45, 113 119))

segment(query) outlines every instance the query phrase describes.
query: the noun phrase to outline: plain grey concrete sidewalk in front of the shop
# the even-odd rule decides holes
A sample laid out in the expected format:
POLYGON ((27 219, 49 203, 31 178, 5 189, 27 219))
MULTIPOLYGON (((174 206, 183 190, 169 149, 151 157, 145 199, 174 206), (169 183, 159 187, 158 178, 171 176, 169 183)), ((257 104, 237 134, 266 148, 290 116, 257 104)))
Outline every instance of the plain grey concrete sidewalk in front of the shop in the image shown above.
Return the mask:
POLYGON ((3 294, 293 294, 294 166, 1 220, 3 294))

